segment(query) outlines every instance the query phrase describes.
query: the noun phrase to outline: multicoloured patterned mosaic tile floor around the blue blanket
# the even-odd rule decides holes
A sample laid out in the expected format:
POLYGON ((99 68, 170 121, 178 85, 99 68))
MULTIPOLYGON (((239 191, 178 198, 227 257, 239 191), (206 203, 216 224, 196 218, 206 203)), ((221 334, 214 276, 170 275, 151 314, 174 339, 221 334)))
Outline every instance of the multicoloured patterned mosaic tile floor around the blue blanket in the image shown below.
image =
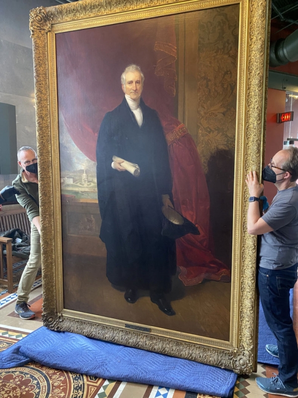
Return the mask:
MULTIPOLYGON (((0 296, 0 349, 5 349, 16 340, 25 337, 41 326, 42 287, 35 282, 29 304, 36 312, 30 321, 20 319, 14 313, 16 294, 0 296)), ((275 369, 258 364, 257 373, 239 376, 233 398, 274 398, 263 393, 255 383, 256 377, 271 376, 275 369), (271 372, 271 373, 270 373, 271 372)), ((21 368, 0 370, 0 398, 210 398, 210 396, 178 391, 162 386, 149 386, 114 380, 92 378, 61 370, 51 369, 37 363, 21 368), (38 387, 40 386, 40 387, 38 387), (44 386, 47 386, 45 388, 44 386), (5 394, 5 395, 4 395, 5 394)))

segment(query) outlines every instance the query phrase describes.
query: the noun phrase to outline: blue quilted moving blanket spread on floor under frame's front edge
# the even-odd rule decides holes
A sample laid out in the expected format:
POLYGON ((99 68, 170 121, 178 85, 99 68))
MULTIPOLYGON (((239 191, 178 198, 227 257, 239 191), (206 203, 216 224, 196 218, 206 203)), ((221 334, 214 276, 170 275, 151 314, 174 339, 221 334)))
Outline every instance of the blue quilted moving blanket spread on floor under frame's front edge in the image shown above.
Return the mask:
POLYGON ((237 375, 215 368, 42 326, 0 352, 0 368, 31 361, 103 379, 231 397, 237 375))

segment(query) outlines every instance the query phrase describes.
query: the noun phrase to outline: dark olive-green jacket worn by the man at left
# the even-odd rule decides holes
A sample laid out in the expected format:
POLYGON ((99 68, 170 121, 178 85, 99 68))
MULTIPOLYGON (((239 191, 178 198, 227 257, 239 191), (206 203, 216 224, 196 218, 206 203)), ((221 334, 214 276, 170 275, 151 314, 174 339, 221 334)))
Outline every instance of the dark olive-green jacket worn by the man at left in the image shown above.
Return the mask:
POLYGON ((26 209, 28 218, 32 221, 39 215, 38 184, 28 181, 23 170, 12 181, 12 186, 20 192, 20 195, 15 196, 16 200, 26 209))

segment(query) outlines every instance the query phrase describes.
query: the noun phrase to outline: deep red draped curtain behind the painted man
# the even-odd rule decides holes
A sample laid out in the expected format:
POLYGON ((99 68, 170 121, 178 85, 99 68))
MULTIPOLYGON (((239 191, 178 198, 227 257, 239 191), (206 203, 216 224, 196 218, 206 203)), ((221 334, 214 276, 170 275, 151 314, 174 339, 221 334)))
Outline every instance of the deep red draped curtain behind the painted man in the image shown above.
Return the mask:
POLYGON ((211 252, 209 194, 196 145, 173 116, 175 17, 59 33, 56 49, 60 121, 63 118, 75 145, 94 162, 101 121, 123 99, 120 76, 129 64, 141 67, 142 97, 158 111, 168 142, 175 208, 201 232, 176 241, 179 278, 185 285, 229 280, 228 268, 211 252))

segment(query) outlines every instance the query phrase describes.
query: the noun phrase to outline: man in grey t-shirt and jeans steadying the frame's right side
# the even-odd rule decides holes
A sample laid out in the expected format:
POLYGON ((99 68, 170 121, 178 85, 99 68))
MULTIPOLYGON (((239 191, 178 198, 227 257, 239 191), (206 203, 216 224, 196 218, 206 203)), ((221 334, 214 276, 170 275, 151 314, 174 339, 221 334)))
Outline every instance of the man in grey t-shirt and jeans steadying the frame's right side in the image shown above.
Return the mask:
POLYGON ((258 286, 267 324, 277 339, 277 346, 267 344, 266 350, 279 357, 280 365, 278 376, 258 377, 256 383, 266 393, 298 397, 298 348, 289 300, 298 267, 298 148, 290 147, 274 155, 262 177, 274 183, 278 193, 261 217, 258 199, 263 184, 259 184, 255 171, 247 174, 247 231, 262 235, 258 286))

